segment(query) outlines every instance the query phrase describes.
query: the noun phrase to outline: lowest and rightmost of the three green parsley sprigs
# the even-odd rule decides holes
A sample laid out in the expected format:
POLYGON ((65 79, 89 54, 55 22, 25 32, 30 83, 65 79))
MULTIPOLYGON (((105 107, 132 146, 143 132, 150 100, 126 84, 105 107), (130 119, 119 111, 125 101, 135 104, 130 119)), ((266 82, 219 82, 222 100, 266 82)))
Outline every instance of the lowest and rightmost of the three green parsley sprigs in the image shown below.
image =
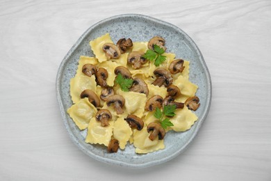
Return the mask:
POLYGON ((154 117, 158 118, 158 120, 161 123, 161 126, 164 129, 167 129, 167 127, 170 126, 174 126, 171 122, 169 118, 164 118, 165 116, 169 116, 169 117, 173 117, 176 114, 174 113, 174 111, 176 110, 176 105, 167 105, 163 108, 163 112, 161 111, 161 109, 159 109, 158 107, 156 107, 155 112, 154 112, 154 117))

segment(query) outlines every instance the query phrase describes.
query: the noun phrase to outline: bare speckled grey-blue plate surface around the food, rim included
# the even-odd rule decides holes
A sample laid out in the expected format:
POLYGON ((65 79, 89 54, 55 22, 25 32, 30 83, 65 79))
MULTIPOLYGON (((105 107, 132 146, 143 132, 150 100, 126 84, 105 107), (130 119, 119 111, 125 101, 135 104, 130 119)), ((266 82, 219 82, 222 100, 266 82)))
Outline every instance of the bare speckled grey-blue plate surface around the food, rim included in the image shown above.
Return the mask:
POLYGON ((86 155, 108 164, 129 168, 154 166, 173 159, 183 152, 195 138, 204 122, 211 105, 211 77, 204 58, 195 42, 178 27, 145 15, 117 15, 91 26, 69 50, 58 69, 56 77, 56 93, 67 132, 74 143, 86 155), (79 56, 94 56, 89 42, 95 38, 110 33, 113 42, 120 38, 131 38, 133 41, 148 41, 153 36, 162 36, 166 40, 167 52, 174 52, 176 58, 190 61, 190 81, 197 84, 201 106, 195 113, 199 117, 195 125, 186 132, 168 132, 165 136, 165 149, 145 155, 135 153, 133 145, 127 145, 125 150, 109 154, 101 145, 85 143, 86 131, 80 132, 67 114, 72 106, 69 95, 69 80, 74 77, 79 56))

